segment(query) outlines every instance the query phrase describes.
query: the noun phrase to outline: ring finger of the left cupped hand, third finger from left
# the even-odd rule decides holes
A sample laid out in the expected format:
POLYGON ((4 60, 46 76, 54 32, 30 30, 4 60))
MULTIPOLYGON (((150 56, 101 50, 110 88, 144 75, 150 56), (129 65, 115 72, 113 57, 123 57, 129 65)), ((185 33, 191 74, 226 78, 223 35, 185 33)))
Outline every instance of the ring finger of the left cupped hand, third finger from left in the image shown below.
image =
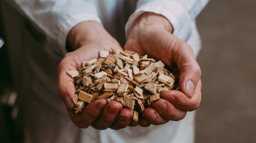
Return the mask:
POLYGON ((130 110, 129 108, 122 108, 119 115, 117 116, 116 121, 111 126, 109 126, 109 128, 114 130, 125 128, 129 125, 132 118, 132 110, 130 110))

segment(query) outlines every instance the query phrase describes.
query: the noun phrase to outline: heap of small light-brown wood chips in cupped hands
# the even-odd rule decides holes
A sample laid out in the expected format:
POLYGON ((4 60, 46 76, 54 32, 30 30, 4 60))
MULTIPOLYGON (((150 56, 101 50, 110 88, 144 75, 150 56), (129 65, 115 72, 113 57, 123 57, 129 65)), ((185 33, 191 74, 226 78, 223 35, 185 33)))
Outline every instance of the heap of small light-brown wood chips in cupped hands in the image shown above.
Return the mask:
POLYGON ((180 89, 177 68, 171 72, 163 62, 132 51, 112 48, 112 52, 99 51, 99 59, 83 61, 82 69, 67 72, 75 78, 75 113, 97 98, 106 98, 130 108, 137 121, 139 113, 152 106, 162 93, 180 89))

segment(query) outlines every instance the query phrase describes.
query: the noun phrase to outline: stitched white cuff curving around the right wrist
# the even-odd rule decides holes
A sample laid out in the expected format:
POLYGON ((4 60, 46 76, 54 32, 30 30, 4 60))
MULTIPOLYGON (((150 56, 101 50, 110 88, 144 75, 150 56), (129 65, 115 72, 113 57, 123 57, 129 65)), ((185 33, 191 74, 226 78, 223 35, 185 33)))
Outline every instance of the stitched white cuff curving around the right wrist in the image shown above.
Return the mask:
POLYGON ((135 21, 145 12, 154 12, 166 17, 173 26, 173 35, 179 39, 186 41, 190 37, 192 32, 192 22, 186 9, 178 3, 163 0, 161 2, 149 2, 136 9, 125 25, 126 38, 130 34, 135 21))

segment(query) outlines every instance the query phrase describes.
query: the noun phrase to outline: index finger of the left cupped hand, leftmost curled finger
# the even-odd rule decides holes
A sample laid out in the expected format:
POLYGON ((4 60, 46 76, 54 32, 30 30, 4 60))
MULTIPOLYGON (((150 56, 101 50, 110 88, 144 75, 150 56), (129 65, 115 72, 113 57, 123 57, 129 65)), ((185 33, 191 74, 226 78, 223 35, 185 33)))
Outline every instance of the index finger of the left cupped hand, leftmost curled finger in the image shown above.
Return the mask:
POLYGON ((106 99, 96 99, 90 104, 87 104, 81 113, 75 114, 74 112, 69 111, 69 115, 76 126, 80 128, 88 128, 97 118, 99 118, 106 105, 106 99))

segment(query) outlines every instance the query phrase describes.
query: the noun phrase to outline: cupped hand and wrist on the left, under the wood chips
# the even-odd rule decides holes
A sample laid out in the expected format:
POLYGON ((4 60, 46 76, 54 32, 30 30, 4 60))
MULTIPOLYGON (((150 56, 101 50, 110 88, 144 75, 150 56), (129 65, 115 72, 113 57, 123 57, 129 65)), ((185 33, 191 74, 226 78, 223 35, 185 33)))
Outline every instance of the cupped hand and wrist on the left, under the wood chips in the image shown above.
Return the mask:
POLYGON ((121 129, 130 123, 133 112, 122 108, 117 101, 107 103, 106 99, 96 99, 87 104, 79 114, 73 112, 75 103, 74 79, 67 75, 67 71, 80 69, 82 61, 98 59, 99 50, 111 51, 111 47, 121 49, 119 43, 107 33, 103 26, 97 22, 82 22, 76 25, 67 36, 68 44, 73 52, 67 53, 58 66, 58 93, 65 102, 69 116, 76 126, 88 128, 90 125, 96 129, 104 130, 108 127, 121 129))

